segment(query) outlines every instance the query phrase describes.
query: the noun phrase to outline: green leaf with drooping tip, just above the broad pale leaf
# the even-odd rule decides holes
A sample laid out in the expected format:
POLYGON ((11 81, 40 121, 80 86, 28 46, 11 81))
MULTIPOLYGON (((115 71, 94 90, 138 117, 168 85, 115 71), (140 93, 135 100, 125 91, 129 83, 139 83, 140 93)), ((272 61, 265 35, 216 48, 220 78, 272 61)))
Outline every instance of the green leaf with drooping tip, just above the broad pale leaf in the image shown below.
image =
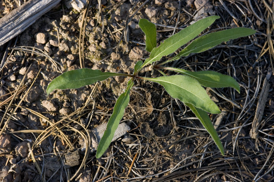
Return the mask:
POLYGON ((192 72, 187 71, 185 69, 179 68, 169 68, 165 67, 165 69, 173 70, 184 75, 190 76, 198 80, 198 82, 202 86, 206 87, 213 87, 213 88, 222 88, 222 87, 232 87, 236 89, 240 93, 240 86, 231 76, 223 75, 221 73, 215 71, 199 71, 199 72, 192 72))

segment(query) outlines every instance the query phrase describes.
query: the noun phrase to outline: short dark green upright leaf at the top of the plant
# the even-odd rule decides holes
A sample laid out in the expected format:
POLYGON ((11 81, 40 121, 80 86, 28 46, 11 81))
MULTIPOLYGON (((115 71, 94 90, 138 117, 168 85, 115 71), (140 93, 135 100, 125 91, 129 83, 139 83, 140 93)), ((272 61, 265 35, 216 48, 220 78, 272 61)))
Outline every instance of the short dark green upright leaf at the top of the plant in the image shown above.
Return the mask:
POLYGON ((139 27, 146 35, 146 50, 151 52, 156 47, 156 26, 147 19, 139 20, 139 27))

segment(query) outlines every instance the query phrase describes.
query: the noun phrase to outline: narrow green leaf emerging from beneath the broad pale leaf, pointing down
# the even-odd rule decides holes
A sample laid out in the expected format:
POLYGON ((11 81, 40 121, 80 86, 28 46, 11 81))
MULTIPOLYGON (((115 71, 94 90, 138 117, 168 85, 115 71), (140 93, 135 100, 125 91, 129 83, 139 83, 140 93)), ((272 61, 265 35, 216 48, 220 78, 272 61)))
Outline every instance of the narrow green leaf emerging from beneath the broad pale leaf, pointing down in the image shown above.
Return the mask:
POLYGON ((221 142, 211 120, 209 119, 208 114, 205 111, 194 107, 190 103, 184 103, 184 104, 186 106, 188 106, 192 110, 192 112, 196 115, 196 117, 201 121, 202 125, 205 127, 205 129, 208 131, 210 136, 213 138, 214 142, 216 143, 216 145, 219 148, 222 155, 224 155, 224 149, 223 149, 222 142, 221 142))

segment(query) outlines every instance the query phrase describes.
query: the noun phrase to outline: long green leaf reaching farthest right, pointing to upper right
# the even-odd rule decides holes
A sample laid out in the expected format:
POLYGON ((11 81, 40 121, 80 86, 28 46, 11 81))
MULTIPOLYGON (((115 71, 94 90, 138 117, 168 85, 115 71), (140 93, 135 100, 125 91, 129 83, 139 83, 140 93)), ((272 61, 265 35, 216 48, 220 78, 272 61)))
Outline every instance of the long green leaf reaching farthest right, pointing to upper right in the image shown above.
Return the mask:
POLYGON ((181 56, 188 56, 190 53, 203 52, 210 48, 213 48, 214 46, 222 42, 227 42, 230 39, 246 37, 254 33, 256 33, 255 30, 248 29, 248 28, 235 28, 235 29, 228 29, 228 30, 222 30, 219 32, 209 33, 207 35, 204 35, 202 37, 195 39, 170 61, 179 59, 181 56))

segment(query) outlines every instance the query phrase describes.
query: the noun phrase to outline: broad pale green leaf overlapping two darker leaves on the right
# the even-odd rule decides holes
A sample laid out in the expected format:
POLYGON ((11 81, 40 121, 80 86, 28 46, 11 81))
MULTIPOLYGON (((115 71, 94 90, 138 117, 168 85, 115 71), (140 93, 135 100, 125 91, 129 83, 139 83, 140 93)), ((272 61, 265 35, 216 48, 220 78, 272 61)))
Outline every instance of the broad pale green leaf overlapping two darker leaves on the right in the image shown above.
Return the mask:
POLYGON ((146 79, 160 83, 173 98, 191 103, 209 113, 220 113, 218 106, 210 100, 206 90, 193 78, 173 75, 146 79))

